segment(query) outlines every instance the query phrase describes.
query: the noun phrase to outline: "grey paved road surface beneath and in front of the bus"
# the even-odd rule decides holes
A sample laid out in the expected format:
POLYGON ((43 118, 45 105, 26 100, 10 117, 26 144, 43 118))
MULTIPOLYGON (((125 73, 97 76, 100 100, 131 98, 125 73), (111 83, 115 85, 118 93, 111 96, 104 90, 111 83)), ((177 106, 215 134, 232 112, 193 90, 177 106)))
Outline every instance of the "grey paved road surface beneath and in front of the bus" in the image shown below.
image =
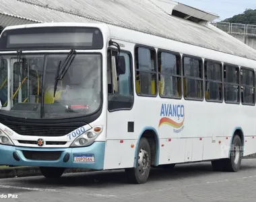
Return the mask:
POLYGON ((251 202, 255 190, 255 159, 243 160, 237 173, 213 172, 209 162, 178 165, 172 172, 156 168, 146 184, 128 184, 123 170, 64 174, 59 180, 42 176, 0 179, 1 202, 251 202))

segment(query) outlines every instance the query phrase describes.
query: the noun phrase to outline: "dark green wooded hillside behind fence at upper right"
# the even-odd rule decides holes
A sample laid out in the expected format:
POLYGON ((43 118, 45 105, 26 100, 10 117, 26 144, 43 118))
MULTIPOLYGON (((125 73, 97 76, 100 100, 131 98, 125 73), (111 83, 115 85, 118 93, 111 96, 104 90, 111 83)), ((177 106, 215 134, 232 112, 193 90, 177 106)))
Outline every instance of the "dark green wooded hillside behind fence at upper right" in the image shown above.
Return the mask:
POLYGON ((256 25, 256 9, 246 9, 244 13, 234 15, 232 18, 227 18, 222 22, 256 25))

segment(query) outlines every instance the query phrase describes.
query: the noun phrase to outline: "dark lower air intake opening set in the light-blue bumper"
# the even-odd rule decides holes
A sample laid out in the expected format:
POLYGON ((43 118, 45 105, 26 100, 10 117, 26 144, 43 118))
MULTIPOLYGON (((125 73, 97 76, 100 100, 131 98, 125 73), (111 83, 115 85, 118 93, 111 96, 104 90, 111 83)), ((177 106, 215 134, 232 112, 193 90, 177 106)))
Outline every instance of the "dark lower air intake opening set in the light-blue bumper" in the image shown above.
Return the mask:
POLYGON ((58 160, 62 151, 22 151, 28 160, 54 161, 58 160))

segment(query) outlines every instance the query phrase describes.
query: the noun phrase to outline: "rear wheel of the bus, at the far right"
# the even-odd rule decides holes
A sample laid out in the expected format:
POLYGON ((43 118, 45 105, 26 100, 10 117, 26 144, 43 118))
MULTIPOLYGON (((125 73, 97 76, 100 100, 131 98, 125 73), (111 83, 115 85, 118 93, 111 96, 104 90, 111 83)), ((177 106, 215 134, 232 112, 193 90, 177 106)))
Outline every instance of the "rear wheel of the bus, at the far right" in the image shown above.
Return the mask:
POLYGON ((230 158, 223 160, 223 170, 228 172, 238 172, 243 158, 243 144, 238 135, 234 135, 230 148, 230 158))

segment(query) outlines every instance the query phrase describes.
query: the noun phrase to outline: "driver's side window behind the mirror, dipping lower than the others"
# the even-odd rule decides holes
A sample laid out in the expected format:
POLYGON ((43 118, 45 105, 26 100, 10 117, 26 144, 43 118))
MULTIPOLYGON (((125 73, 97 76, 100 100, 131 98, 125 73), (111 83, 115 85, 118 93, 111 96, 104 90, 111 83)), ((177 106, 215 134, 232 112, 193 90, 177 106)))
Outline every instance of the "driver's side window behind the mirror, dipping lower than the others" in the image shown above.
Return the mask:
MULTIPOLYGON (((111 56, 117 57, 115 50, 108 50, 107 73, 108 73, 108 110, 130 109, 133 106, 133 77, 131 55, 121 51, 120 57, 125 60, 125 72, 118 72, 118 91, 113 90, 111 56)), ((117 64, 117 63, 116 63, 117 64)))

